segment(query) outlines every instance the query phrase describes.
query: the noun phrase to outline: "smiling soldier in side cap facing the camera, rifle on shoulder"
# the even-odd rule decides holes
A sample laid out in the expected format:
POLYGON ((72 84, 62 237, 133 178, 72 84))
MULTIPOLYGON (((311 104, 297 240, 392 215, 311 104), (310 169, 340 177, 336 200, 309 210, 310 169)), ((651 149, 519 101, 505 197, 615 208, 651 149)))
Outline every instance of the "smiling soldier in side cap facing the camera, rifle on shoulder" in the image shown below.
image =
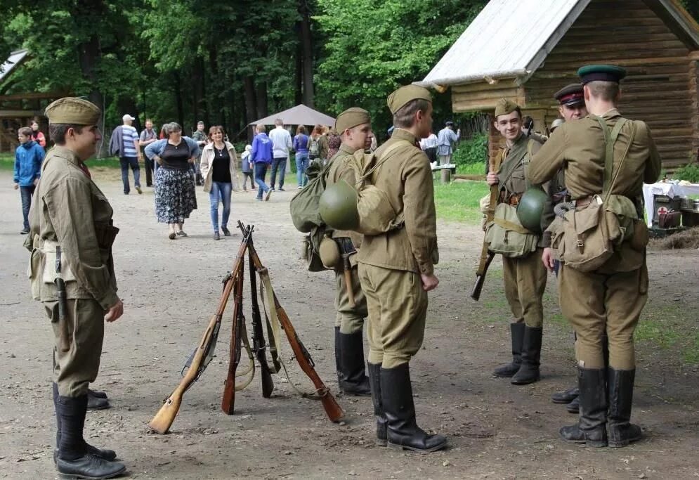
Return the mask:
MULTIPOLYGON (((503 98, 495 107, 495 128, 504 136, 506 147, 499 171, 490 171, 488 185, 498 186, 498 202, 518 205, 529 187, 525 172, 530 155, 541 147, 537 141, 527 138, 521 129, 522 112, 519 106, 503 98)), ((544 188, 546 190, 546 188, 544 188)), ((514 322, 510 325, 512 362, 496 368, 496 377, 511 378, 516 385, 530 384, 539 380, 541 342, 544 313, 542 298, 546 288, 547 271, 541 262, 543 243, 535 252, 523 257, 502 257, 502 276, 505 297, 509 303, 514 322)))

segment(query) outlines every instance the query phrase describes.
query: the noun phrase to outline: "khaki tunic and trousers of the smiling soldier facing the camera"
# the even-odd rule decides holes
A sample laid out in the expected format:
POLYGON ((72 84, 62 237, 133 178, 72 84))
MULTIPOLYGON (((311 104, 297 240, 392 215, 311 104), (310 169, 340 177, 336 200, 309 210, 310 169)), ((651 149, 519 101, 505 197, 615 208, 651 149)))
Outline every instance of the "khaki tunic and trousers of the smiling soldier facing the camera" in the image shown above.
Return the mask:
MULTIPOLYGON (((530 162, 529 150, 536 153, 540 147, 540 143, 521 134, 506 150, 504 161, 497 172, 499 202, 514 204, 512 197, 520 197, 527 190, 525 171, 530 162)), ((528 327, 535 328, 544 323, 542 299, 546 290, 547 270, 541 261, 543 246, 540 238, 535 252, 525 257, 502 257, 505 297, 514 316, 514 323, 524 322, 528 327)))

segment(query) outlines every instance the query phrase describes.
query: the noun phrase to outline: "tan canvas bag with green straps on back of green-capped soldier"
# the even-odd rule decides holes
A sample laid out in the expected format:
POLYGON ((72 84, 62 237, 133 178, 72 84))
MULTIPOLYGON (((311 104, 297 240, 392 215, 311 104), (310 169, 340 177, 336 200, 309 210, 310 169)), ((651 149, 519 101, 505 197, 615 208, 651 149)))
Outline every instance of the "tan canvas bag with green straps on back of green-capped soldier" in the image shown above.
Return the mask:
POLYGON ((605 264, 615 248, 634 236, 639 220, 636 207, 628 197, 610 194, 633 143, 636 124, 632 123, 629 144, 614 174, 614 144, 627 119, 620 119, 610 132, 604 119, 596 118, 605 141, 602 195, 594 195, 583 209, 566 212, 562 227, 557 229, 551 241, 551 247, 558 250, 558 258, 570 268, 582 272, 595 271, 605 264))

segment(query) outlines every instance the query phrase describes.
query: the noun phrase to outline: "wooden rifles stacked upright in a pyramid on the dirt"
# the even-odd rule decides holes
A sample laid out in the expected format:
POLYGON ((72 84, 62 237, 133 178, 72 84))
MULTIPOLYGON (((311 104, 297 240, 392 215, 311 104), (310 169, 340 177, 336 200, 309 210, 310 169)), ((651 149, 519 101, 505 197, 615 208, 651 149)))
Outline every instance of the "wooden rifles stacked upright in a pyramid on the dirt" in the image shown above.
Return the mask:
POLYGON ((240 391, 250 384, 255 373, 254 358, 257 359, 260 367, 262 396, 264 398, 270 398, 274 389, 274 382, 271 374, 278 372, 280 368, 286 370, 282 358, 279 355, 280 330, 282 330, 289 340, 289 345, 292 347, 292 351, 294 351, 294 356, 301 370, 308 375, 315 387, 315 392, 313 394, 304 394, 304 396, 318 398, 322 402, 323 408, 325 408, 325 413, 327 413, 327 416, 332 422, 338 422, 343 415, 342 409, 337 401, 335 401, 334 396, 332 396, 329 389, 325 387, 318 373, 315 372, 315 364, 313 363, 311 354, 308 353, 306 346, 303 345, 301 339, 296 335, 296 330, 294 330, 289 316, 287 316, 274 290, 272 290, 267 268, 263 266, 252 242, 254 226, 245 226, 238 221, 238 228, 240 228, 243 235, 242 242, 240 243, 235 257, 233 270, 223 278, 223 293, 221 294, 221 299, 218 300, 216 312, 214 316, 211 317, 211 320, 209 320, 209 325, 207 326, 207 330, 204 331, 202 341, 192 352, 187 363, 185 363, 180 384, 165 398, 163 406, 148 423, 148 427, 159 434, 166 434, 169 431, 179 411, 185 391, 197 381, 202 375, 202 372, 207 368, 207 365, 209 365, 211 358, 213 358, 216 341, 218 340, 218 330, 221 328, 221 320, 223 319, 223 311, 226 310, 226 304, 228 304, 228 298, 231 292, 234 294, 234 306, 233 325, 230 335, 230 361, 228 363, 228 375, 226 376, 225 387, 223 389, 221 410, 228 415, 233 415, 235 409, 235 391, 240 391), (252 346, 250 346, 247 338, 247 328, 242 308, 246 252, 249 260, 251 291, 252 346), (261 280, 260 293, 263 299, 263 305, 265 306, 265 320, 268 332, 267 342, 264 338, 261 312, 257 299, 258 277, 261 280), (245 346, 248 353, 250 364, 248 369, 244 372, 237 372, 243 346, 245 346), (268 349, 270 351, 270 358, 272 359, 271 367, 267 362, 266 352, 268 349), (242 375, 249 375, 249 377, 242 384, 235 384, 235 378, 242 375))

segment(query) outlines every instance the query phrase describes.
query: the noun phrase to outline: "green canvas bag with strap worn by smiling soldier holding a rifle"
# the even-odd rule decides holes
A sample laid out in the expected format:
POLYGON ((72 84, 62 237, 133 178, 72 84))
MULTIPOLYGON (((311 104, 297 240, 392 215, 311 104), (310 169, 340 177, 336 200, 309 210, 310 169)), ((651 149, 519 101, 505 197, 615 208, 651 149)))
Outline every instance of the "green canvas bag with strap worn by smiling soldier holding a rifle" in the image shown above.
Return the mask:
MULTIPOLYGON (((531 160, 531 141, 527 145, 527 150, 528 158, 531 160)), ((509 171, 504 182, 507 182, 517 167, 518 165, 515 165, 509 171)), ((529 182, 527 182, 527 186, 529 186, 529 182)), ((485 241, 488 242, 490 252, 502 254, 503 257, 518 258, 525 257, 537 249, 539 236, 524 228, 517 216, 517 207, 507 203, 499 203, 495 207, 492 221, 485 225, 485 241)))

